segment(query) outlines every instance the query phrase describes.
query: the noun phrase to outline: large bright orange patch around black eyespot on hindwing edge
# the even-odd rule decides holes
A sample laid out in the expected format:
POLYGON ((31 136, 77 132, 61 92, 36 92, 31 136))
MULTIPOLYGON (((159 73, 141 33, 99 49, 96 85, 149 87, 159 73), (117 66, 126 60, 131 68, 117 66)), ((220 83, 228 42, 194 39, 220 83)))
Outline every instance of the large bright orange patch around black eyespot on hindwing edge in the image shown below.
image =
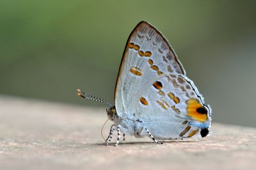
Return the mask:
POLYGON ((198 113, 198 111, 196 111, 198 108, 204 108, 204 106, 202 106, 202 104, 200 104, 198 101, 196 101, 196 99, 189 99, 189 101, 187 101, 188 104, 188 115, 189 117, 198 120, 199 122, 205 122, 208 120, 207 118, 207 113, 198 113))

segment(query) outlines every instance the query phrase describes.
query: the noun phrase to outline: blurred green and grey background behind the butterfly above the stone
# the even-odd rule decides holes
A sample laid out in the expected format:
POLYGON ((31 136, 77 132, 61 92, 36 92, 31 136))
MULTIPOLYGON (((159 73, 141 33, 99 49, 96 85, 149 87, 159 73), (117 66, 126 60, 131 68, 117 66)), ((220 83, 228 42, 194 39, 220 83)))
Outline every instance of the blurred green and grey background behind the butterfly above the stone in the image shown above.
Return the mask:
MULTIPOLYGON (((170 41, 214 122, 256 127, 256 1, 0 0, 0 94, 113 103, 125 43, 141 20, 170 41)), ((102 115, 106 116, 104 110, 102 115)))

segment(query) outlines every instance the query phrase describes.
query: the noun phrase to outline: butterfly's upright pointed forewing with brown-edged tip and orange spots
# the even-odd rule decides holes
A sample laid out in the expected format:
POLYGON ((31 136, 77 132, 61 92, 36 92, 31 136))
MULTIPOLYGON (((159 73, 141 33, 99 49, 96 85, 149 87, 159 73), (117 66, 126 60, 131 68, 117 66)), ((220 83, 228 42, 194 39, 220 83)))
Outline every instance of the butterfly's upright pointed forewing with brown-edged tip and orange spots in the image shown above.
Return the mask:
MULTIPOLYGON (((122 117, 132 113, 135 94, 162 74, 185 71, 172 46, 154 26, 140 22, 131 32, 125 46, 115 87, 115 106, 122 117)), ((139 99, 140 100, 140 99, 139 99)), ((147 101, 141 99, 147 104, 147 101)))

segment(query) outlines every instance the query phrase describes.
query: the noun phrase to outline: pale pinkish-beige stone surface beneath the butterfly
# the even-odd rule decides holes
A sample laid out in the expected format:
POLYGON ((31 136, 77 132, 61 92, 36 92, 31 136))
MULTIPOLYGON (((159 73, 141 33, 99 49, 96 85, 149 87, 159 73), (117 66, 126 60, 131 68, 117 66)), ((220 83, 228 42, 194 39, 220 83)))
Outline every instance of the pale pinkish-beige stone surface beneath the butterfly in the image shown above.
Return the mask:
POLYGON ((213 122, 207 138, 156 145, 127 136, 114 147, 100 136, 106 108, 6 96, 0 108, 0 169, 256 169, 249 127, 213 122))

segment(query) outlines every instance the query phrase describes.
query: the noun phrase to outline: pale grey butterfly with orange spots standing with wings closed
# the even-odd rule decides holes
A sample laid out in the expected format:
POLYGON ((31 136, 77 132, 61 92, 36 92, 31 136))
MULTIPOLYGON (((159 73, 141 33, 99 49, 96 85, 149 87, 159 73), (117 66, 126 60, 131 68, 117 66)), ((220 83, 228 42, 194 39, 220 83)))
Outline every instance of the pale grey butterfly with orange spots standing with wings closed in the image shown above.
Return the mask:
POLYGON ((131 32, 120 64, 115 106, 78 90, 78 95, 110 106, 113 121, 106 145, 117 131, 156 143, 209 134, 212 110, 204 102, 168 40, 156 27, 140 22, 131 32))

